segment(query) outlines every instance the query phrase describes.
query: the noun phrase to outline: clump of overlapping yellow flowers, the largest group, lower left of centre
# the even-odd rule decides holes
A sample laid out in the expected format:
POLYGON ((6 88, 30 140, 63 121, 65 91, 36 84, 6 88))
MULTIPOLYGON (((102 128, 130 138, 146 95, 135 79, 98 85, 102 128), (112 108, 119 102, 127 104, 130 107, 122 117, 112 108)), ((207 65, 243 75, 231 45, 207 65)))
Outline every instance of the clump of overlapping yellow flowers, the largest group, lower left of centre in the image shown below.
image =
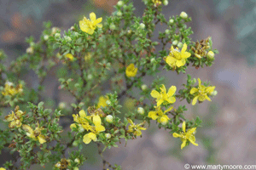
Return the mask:
POLYGON ((73 115, 73 120, 76 123, 70 125, 71 129, 78 126, 82 132, 84 129, 90 131, 90 133, 84 135, 84 144, 89 144, 91 140, 96 141, 97 135, 106 130, 105 127, 102 126, 100 115, 87 116, 84 110, 79 111, 79 115, 73 115))

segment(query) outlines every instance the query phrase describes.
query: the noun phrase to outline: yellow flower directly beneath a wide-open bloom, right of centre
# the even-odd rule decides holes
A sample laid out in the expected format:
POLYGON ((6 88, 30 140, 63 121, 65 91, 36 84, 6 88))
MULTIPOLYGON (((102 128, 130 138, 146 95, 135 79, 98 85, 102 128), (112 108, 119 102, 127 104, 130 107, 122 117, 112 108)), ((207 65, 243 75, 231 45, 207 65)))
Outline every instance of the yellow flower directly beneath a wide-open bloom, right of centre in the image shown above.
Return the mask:
POLYGON ((157 122, 162 123, 165 125, 170 118, 166 115, 166 112, 171 111, 173 107, 170 107, 166 111, 162 111, 160 107, 155 107, 155 111, 149 111, 148 117, 150 117, 153 120, 157 120, 157 122))

